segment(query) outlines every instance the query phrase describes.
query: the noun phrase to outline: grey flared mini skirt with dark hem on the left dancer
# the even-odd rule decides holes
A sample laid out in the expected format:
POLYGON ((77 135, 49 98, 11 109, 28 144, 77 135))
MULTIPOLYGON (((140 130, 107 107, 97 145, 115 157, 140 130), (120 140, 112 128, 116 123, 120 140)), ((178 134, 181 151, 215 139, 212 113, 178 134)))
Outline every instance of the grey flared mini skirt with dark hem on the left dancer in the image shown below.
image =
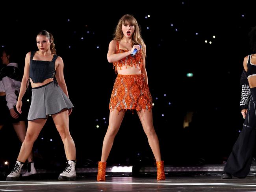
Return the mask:
POLYGON ((57 114, 63 109, 71 109, 70 102, 63 90, 52 82, 32 88, 32 101, 28 120, 46 119, 49 114, 57 114))

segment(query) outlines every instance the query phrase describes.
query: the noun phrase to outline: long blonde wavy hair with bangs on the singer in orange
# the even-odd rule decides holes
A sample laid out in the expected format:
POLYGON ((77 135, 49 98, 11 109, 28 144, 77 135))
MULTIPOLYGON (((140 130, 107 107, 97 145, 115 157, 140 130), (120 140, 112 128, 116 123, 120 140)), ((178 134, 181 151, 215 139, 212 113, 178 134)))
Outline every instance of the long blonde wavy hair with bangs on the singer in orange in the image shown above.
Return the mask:
POLYGON ((122 33, 122 24, 131 24, 134 26, 134 34, 132 36, 132 46, 134 46, 135 44, 140 44, 142 47, 142 54, 146 56, 146 52, 145 52, 146 45, 141 37, 141 30, 140 30, 139 24, 137 20, 134 18, 134 16, 130 14, 126 14, 119 19, 119 22, 115 28, 113 40, 121 41, 122 38, 124 37, 124 34, 122 33))

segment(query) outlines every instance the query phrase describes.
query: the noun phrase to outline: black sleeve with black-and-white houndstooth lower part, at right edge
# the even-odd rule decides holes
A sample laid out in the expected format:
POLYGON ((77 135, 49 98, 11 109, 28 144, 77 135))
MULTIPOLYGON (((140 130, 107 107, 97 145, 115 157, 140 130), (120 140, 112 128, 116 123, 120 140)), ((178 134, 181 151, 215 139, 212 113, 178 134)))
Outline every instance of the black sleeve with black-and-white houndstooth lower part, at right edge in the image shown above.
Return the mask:
POLYGON ((245 70, 243 70, 241 74, 240 87, 242 89, 240 106, 241 109, 247 109, 250 99, 250 87, 247 79, 247 72, 245 70))

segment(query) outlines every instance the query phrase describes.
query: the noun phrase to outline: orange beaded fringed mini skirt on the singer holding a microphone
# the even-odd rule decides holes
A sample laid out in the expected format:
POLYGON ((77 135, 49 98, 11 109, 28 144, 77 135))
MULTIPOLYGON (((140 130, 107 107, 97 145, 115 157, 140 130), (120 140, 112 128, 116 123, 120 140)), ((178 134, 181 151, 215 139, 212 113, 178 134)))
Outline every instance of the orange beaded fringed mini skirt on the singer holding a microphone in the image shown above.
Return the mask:
POLYGON ((152 97, 148 84, 142 74, 139 75, 117 75, 112 90, 109 109, 151 109, 152 97))

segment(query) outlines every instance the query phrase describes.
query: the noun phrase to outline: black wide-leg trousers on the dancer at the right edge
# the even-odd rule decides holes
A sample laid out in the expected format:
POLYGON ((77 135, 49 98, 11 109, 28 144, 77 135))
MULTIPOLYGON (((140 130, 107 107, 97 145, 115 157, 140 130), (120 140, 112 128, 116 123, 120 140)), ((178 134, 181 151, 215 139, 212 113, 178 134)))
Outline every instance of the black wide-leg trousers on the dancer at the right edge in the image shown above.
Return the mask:
POLYGON ((243 129, 228 157, 224 172, 245 178, 250 171, 256 137, 256 87, 250 89, 251 97, 243 129))

